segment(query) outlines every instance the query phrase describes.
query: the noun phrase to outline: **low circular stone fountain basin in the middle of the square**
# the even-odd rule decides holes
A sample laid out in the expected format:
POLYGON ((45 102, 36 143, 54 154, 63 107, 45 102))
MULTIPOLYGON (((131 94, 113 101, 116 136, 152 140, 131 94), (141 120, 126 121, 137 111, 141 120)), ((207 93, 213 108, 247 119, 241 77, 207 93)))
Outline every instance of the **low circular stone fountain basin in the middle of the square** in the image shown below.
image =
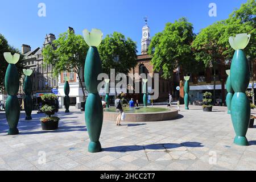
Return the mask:
MULTIPOLYGON (((126 114, 125 122, 150 122, 167 121, 175 119, 178 111, 174 108, 163 107, 124 107, 126 114)), ((106 108, 104 111, 104 121, 116 121, 117 111, 114 107, 106 108)))

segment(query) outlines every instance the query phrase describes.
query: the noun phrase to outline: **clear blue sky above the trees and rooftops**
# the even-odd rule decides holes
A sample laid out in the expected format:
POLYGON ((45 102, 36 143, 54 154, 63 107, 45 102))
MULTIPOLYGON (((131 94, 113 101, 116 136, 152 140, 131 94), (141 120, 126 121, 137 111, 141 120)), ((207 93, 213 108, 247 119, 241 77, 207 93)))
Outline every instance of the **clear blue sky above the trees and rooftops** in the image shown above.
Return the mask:
POLYGON ((195 32, 217 20, 226 19, 246 0, 9 0, 0 2, 0 33, 9 44, 19 48, 28 44, 42 47, 46 34, 58 36, 68 26, 82 35, 84 28, 100 28, 104 35, 121 32, 138 44, 141 51, 141 29, 148 16, 151 36, 162 31, 167 22, 185 16, 195 32), (38 4, 46 4, 46 17, 38 16, 38 4), (217 5, 217 17, 208 15, 209 3, 217 5))

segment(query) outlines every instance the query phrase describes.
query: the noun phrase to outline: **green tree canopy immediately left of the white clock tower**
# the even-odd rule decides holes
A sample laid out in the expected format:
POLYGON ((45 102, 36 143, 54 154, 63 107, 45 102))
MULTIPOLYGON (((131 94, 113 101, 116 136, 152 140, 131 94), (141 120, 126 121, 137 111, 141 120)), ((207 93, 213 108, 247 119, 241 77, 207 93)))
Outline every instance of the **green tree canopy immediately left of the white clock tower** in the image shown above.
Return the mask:
POLYGON ((98 48, 103 72, 109 74, 114 68, 116 73, 129 73, 137 65, 136 49, 136 43, 119 32, 106 35, 98 48))

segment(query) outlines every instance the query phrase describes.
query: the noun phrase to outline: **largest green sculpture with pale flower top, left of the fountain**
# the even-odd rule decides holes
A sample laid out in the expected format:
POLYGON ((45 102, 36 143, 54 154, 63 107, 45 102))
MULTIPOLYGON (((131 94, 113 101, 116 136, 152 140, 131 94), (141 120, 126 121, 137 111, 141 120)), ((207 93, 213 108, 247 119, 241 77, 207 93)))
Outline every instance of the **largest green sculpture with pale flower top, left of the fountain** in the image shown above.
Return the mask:
POLYGON ((102 41, 102 32, 98 29, 83 31, 86 44, 89 50, 85 60, 84 78, 85 85, 89 92, 85 105, 85 122, 88 129, 90 143, 89 152, 100 152, 102 150, 99 141, 103 123, 103 106, 100 95, 98 94, 98 75, 102 73, 100 55, 97 47, 102 41))

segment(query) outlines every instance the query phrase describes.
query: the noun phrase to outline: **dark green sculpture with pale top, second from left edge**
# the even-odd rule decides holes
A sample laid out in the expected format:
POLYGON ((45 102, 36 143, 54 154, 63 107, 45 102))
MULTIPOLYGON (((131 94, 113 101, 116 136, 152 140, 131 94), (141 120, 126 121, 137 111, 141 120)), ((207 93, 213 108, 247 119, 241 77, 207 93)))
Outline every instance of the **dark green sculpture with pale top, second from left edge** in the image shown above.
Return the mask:
POLYGON ((24 98, 24 109, 26 113, 26 120, 31 120, 31 113, 33 109, 33 100, 31 97, 32 94, 32 69, 23 69, 23 73, 25 75, 25 80, 23 83, 23 91, 26 94, 24 98))

